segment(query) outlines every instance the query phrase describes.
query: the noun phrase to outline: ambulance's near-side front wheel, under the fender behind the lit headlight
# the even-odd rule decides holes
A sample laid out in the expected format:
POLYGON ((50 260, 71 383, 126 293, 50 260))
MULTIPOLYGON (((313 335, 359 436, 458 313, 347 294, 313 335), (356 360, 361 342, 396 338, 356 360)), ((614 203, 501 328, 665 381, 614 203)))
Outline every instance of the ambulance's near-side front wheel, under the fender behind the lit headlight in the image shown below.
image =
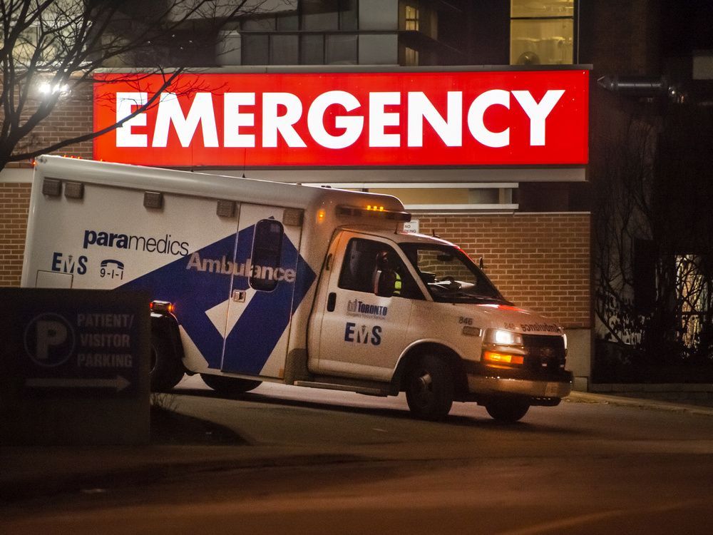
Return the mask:
POLYGON ((437 422, 453 405, 453 372, 448 362, 425 355, 406 374, 406 402, 415 417, 437 422))

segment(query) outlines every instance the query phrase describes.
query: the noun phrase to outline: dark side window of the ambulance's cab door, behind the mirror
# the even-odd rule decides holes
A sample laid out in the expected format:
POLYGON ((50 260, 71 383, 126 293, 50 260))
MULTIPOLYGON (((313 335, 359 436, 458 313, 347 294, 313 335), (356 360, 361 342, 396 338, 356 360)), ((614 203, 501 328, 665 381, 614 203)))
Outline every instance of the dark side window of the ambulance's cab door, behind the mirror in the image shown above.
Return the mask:
POLYGON ((377 270, 391 269, 396 272, 394 297, 423 299, 421 290, 406 270, 396 251, 384 243, 362 238, 352 238, 344 253, 339 287, 355 292, 374 293, 374 277, 377 270))

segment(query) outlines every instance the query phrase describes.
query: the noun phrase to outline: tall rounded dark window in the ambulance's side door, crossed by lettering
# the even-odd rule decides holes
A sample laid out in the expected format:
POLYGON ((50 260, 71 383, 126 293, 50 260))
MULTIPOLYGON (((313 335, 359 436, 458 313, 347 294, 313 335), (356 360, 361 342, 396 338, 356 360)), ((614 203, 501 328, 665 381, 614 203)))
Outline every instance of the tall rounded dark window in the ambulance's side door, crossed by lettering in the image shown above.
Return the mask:
POLYGON ((252 272, 250 286, 255 290, 271 292, 277 287, 276 271, 282 255, 282 223, 263 219, 255 224, 252 241, 252 272))

